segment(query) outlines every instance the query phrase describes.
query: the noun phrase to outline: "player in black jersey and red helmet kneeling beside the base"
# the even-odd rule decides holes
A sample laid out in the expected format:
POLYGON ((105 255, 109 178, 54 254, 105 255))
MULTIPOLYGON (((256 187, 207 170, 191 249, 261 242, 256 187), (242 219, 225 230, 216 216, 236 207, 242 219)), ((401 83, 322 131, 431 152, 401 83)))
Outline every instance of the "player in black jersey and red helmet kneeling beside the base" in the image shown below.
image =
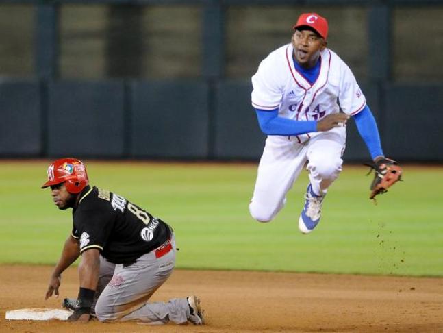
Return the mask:
POLYGON ((68 321, 86 322, 92 314, 99 321, 204 323, 194 295, 147 303, 175 267, 175 236, 169 225, 115 193, 89 186, 86 168, 75 158, 49 165, 42 188, 47 187, 60 210, 73 208, 73 230, 45 299, 58 296, 62 272, 81 255, 79 296, 68 321))

